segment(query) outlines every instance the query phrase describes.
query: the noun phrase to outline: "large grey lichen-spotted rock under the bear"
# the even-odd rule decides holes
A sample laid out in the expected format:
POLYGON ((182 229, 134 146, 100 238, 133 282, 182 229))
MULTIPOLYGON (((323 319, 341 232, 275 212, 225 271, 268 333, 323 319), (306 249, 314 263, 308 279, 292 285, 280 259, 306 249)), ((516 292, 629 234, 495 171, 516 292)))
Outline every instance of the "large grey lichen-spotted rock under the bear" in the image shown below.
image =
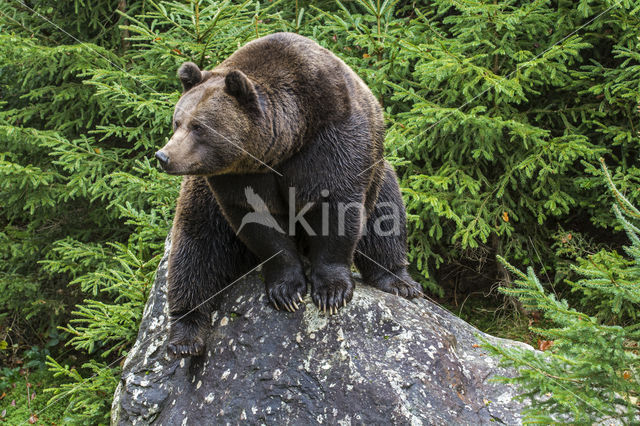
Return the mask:
POLYGON ((510 375, 478 347, 479 332, 427 300, 358 285, 351 303, 325 316, 267 305, 258 275, 221 295, 206 355, 173 360, 167 252, 137 342, 116 390, 114 424, 520 423, 510 375))

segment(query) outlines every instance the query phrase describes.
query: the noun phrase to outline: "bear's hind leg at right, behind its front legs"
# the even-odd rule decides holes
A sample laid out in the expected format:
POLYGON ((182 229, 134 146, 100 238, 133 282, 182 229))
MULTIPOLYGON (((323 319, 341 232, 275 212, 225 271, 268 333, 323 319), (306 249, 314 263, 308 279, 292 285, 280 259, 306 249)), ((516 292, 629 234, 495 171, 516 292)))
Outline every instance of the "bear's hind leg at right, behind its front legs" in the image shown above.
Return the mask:
POLYGON ((385 162, 383 183, 358 241, 354 263, 365 284, 407 299, 422 296, 407 272, 406 213, 393 168, 385 162))

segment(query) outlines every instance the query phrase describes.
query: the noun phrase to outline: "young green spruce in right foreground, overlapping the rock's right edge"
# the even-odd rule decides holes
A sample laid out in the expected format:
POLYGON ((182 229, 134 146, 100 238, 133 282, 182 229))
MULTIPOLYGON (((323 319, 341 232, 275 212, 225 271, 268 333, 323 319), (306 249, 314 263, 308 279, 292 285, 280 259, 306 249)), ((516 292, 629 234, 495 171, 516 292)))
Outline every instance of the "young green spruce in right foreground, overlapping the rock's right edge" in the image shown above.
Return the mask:
POLYGON ((530 422, 638 421, 640 210, 613 184, 604 163, 603 170, 617 201, 613 216, 630 245, 622 253, 601 250, 578 259, 574 270, 581 278, 569 282, 582 296, 577 306, 545 289, 533 268, 524 274, 501 259, 517 277, 515 287, 502 291, 542 311, 554 325, 535 329, 549 339, 545 352, 486 342, 505 365, 518 369, 518 377, 505 380, 520 385, 521 397, 533 403, 526 411, 530 422))

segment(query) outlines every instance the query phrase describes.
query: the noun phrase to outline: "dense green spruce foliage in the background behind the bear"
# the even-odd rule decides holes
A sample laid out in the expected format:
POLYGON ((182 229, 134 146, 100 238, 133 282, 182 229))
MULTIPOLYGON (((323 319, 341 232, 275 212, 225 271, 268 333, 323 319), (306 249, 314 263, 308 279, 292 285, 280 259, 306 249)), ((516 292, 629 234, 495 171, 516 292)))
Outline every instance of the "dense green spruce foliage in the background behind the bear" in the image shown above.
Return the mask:
POLYGON ((428 291, 516 276, 540 294, 564 286, 589 318, 635 318, 637 300, 576 297, 566 280, 589 256, 627 262, 598 158, 640 205, 639 13, 631 0, 2 2, 3 363, 50 353, 68 419, 107 421, 175 208, 179 178, 152 156, 171 133, 175 71, 276 31, 335 52, 383 105, 428 291), (496 256, 535 266, 544 286, 496 256))

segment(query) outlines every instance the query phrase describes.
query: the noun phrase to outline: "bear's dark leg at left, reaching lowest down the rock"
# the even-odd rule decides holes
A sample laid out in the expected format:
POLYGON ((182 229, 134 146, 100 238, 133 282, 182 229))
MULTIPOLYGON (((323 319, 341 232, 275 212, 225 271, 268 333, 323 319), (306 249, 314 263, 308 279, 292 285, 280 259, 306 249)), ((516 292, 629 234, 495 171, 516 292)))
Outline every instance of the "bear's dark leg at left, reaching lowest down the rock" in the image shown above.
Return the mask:
POLYGON ((185 177, 171 233, 168 351, 200 355, 210 327, 212 296, 257 261, 238 240, 204 178, 185 177))

